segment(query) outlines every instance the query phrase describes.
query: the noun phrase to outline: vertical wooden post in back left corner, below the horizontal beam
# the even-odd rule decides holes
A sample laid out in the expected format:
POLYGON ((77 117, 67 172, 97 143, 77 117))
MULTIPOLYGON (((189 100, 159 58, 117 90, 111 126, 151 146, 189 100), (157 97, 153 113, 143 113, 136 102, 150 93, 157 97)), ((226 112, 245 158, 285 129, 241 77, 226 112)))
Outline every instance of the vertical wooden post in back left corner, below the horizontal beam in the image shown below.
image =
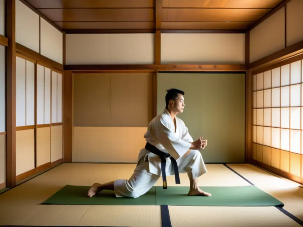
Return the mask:
POLYGON ((63 72, 63 158, 72 162, 72 90, 73 72, 63 72))

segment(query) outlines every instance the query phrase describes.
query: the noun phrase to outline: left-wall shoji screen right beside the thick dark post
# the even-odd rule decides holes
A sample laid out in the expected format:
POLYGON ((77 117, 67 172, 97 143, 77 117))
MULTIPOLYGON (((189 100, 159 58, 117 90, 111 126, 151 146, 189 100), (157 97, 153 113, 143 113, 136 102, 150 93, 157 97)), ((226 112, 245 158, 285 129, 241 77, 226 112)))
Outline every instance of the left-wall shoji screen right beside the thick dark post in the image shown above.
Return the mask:
POLYGON ((35 169, 35 63, 16 57, 16 176, 35 169))

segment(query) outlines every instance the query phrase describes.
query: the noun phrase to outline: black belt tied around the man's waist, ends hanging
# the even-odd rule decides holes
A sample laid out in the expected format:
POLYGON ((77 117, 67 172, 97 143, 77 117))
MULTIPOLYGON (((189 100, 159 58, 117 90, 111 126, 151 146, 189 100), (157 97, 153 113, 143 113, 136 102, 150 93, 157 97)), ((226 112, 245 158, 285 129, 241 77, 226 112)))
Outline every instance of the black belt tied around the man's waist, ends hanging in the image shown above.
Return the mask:
POLYGON ((176 184, 180 184, 180 177, 179 177, 179 169, 177 161, 168 153, 164 153, 155 146, 151 145, 150 143, 146 143, 145 149, 148 150, 151 153, 154 153, 155 155, 158 155, 161 158, 161 172, 162 172, 162 180, 163 180, 163 189, 167 189, 167 183, 166 183, 166 173, 165 173, 165 165, 166 165, 166 158, 170 158, 171 163, 174 166, 175 171, 175 180, 176 184))

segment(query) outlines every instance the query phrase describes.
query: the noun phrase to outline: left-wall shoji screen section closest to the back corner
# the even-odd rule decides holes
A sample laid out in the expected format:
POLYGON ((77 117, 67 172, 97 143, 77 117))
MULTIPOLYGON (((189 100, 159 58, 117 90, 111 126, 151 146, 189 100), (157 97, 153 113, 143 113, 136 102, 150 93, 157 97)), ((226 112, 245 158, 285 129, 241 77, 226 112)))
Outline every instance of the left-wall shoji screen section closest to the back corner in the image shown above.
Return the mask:
POLYGON ((37 64, 37 166, 62 159, 62 74, 37 64))

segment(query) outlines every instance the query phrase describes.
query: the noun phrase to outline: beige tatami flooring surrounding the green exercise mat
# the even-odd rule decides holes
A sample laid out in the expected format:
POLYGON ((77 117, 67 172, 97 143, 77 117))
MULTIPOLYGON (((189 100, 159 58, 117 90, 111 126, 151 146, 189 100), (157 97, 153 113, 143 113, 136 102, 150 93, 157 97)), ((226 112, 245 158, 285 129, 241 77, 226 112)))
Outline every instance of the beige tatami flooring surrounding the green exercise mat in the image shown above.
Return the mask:
MULTIPOLYGON (((247 181, 222 164, 207 164, 208 173, 199 179, 200 186, 244 186, 247 181)), ((280 195, 282 180, 251 165, 229 165, 256 186, 280 195), (262 177, 266 179, 261 180, 262 177), (267 184, 270 186, 266 185, 267 184), (273 182, 273 183, 272 183, 273 182), (262 188, 263 186, 263 188, 262 188), (270 189, 271 187, 271 189, 270 189), (276 189, 276 190, 275 190, 276 189)), ((64 163, 0 195, 0 225, 69 225, 160 227, 160 206, 62 206, 39 205, 66 184, 91 185, 114 179, 127 179, 134 164, 64 163)), ((181 174, 181 186, 188 186, 187 174, 181 174)), ((284 180, 282 180, 284 181, 284 180)), ((286 184, 291 184, 284 181, 286 184)), ((161 178, 157 182, 162 185, 161 178)), ((283 184, 282 184, 283 185, 283 184)), ((168 187, 176 186, 174 176, 168 187)), ((297 186, 298 189, 298 186, 297 186)), ((265 191, 266 191, 265 190, 265 191)), ((289 212, 300 216, 303 196, 288 186, 284 196, 289 212), (294 196, 296 195, 296 196, 294 196), (301 199, 301 200, 300 200, 301 199)), ((169 206, 172 226, 300 226, 275 207, 183 207, 169 206)), ((301 214, 302 215, 302 214, 301 214)))

